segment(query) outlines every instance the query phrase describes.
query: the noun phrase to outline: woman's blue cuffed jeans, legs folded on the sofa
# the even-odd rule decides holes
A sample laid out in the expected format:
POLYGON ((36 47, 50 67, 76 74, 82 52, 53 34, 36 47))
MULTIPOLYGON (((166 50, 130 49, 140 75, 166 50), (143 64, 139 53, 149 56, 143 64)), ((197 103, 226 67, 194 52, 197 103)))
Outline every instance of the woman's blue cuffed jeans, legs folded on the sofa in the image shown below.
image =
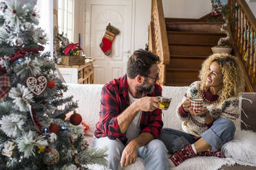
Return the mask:
MULTIPOLYGON (((211 145, 211 151, 220 149, 224 143, 231 141, 235 135, 235 124, 230 119, 220 118, 213 122, 213 125, 201 134, 206 143, 211 145)), ((160 140, 164 143, 169 154, 174 154, 184 146, 193 144, 197 139, 191 134, 180 130, 164 128, 160 140)))

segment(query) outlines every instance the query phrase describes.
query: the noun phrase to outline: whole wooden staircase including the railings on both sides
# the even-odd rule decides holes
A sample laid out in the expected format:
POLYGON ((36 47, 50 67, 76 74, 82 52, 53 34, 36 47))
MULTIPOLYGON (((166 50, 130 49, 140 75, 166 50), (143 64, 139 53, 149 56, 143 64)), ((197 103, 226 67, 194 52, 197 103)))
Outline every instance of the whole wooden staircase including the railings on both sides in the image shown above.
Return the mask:
MULTIPOLYGON (((160 85, 189 86, 198 80, 202 62, 211 55, 211 47, 226 36, 220 25, 207 23, 211 14, 200 19, 164 19, 162 0, 151 0, 149 51, 160 57, 160 85)), ((246 92, 256 91, 256 18, 245 0, 228 0, 230 8, 238 7, 229 19, 229 44, 233 56, 243 65, 246 92), (250 36, 248 36, 250 35, 250 36)), ((221 18, 220 18, 221 19, 221 18)), ((220 21, 215 18, 215 21, 220 21)))

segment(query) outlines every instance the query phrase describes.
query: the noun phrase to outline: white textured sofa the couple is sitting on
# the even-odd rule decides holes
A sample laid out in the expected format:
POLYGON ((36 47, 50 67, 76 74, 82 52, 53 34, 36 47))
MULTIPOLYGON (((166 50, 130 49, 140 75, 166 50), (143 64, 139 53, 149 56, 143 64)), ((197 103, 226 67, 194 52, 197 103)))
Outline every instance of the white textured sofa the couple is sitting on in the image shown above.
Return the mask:
MULTIPOLYGON (((83 117, 83 121, 89 125, 89 130, 86 131, 86 136, 89 141, 89 145, 92 146, 92 142, 94 140, 94 130, 95 130, 95 124, 98 122, 99 115, 98 113, 100 112, 100 92, 101 88, 103 87, 103 84, 67 84, 68 89, 67 93, 64 94, 64 96, 74 96, 74 101, 78 101, 78 109, 76 109, 76 112, 81 114, 83 117)), ((178 117, 176 116, 175 110, 182 101, 182 97, 184 96, 184 93, 186 92, 187 86, 180 86, 180 87, 175 87, 175 86, 162 86, 162 96, 166 97, 171 97, 171 104, 169 106, 168 110, 164 110, 164 117, 162 117, 162 120, 164 122, 164 127, 171 127, 175 128, 176 130, 182 130, 181 124, 182 122, 178 117)), ((240 127, 237 127, 238 130, 240 130, 240 127)), ((255 151, 256 153, 256 151, 255 151)), ((255 154, 256 158, 256 154, 255 154)), ((219 158, 213 158, 214 159, 219 159, 219 158)), ((190 159, 193 161, 193 158, 190 159)), ((226 160, 226 162, 222 161, 220 162, 220 165, 217 165, 216 162, 213 162, 213 166, 206 165, 207 167, 202 167, 201 165, 198 165, 199 167, 202 167, 202 169, 216 169, 216 167, 220 168, 222 165, 234 165, 234 161, 229 161, 226 160)), ((191 167, 191 162, 185 161, 182 163, 184 165, 184 169, 195 169, 195 167, 191 167), (188 165, 186 165, 186 163, 188 165), (190 166, 186 167, 186 166, 190 166)), ((195 162, 195 161, 194 161, 195 162)), ((256 162, 256 160, 255 160, 256 162)), ((204 162, 205 164, 205 162, 204 162)), ((242 165, 248 165, 246 163, 240 163, 242 165)), ((182 166, 178 166, 179 169, 182 169, 182 166)), ((95 168, 95 167, 90 167, 91 169, 103 169, 103 168, 95 168)), ((130 165, 129 167, 125 169, 132 169, 132 170, 141 170, 144 169, 143 165, 143 160, 141 158, 138 158, 136 163, 134 165, 130 165)), ((198 168, 197 168, 198 169, 198 168)))

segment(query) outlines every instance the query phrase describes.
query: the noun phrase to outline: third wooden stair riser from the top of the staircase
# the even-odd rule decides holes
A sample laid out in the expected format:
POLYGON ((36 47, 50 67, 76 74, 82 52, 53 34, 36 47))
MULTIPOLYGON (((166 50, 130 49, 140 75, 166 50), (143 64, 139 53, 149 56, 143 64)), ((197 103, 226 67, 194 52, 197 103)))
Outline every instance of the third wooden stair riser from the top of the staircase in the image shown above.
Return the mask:
POLYGON ((210 56, 213 45, 169 45, 171 56, 210 56))

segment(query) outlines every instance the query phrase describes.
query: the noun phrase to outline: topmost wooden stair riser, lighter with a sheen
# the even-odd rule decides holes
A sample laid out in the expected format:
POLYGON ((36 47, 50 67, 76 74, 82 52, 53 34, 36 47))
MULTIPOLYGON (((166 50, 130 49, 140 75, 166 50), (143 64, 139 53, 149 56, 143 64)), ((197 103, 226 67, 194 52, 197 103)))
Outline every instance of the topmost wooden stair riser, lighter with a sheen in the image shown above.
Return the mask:
POLYGON ((167 32, 212 32, 222 33, 220 25, 213 25, 209 23, 166 23, 167 32))

